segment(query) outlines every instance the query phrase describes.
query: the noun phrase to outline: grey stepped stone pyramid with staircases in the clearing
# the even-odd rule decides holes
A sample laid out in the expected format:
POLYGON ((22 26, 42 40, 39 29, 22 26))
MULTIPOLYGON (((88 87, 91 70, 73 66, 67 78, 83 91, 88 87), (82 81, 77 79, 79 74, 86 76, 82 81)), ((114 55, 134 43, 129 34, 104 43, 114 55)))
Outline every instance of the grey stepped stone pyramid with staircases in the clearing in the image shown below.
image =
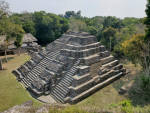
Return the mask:
POLYGON ((126 74, 95 36, 68 32, 13 71, 36 96, 74 104, 126 74))

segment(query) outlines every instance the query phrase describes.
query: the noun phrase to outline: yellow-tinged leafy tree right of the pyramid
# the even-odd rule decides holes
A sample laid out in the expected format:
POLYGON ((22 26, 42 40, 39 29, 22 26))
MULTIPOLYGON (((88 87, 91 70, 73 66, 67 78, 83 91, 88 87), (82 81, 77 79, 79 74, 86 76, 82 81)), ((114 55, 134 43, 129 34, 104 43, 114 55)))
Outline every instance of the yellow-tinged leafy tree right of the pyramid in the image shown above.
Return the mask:
POLYGON ((145 69, 148 61, 146 55, 148 55, 148 45, 144 42, 144 35, 137 34, 122 43, 122 50, 126 56, 134 63, 141 64, 145 69))

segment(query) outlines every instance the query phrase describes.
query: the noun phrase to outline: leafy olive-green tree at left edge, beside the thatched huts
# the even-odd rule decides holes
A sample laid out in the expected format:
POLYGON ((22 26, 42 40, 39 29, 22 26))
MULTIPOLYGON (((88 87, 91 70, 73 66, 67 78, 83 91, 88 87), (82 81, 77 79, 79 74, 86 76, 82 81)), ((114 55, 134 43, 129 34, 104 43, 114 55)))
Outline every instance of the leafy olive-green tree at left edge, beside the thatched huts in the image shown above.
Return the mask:
POLYGON ((9 5, 4 1, 0 1, 0 4, 0 35, 6 36, 1 48, 4 49, 6 53, 10 41, 15 40, 17 47, 22 45, 24 30, 21 25, 15 24, 9 18, 9 5))

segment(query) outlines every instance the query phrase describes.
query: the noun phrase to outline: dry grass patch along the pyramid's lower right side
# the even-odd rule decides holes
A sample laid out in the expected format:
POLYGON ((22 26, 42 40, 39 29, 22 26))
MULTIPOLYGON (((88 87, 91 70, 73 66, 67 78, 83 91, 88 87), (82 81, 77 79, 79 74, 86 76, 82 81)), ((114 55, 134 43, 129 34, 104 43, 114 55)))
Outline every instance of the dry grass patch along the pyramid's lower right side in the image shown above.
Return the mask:
POLYGON ((101 89, 87 99, 81 101, 76 106, 83 109, 107 109, 110 104, 126 99, 118 94, 112 85, 101 89))

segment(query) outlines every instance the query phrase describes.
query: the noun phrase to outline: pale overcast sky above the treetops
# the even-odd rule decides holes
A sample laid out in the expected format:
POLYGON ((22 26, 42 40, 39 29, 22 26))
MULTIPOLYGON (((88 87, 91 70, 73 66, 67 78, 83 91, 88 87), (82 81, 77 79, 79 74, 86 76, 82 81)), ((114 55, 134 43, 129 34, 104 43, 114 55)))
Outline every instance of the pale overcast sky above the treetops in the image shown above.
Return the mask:
POLYGON ((81 10, 83 16, 144 17, 146 0, 5 0, 13 12, 45 10, 64 14, 81 10))

